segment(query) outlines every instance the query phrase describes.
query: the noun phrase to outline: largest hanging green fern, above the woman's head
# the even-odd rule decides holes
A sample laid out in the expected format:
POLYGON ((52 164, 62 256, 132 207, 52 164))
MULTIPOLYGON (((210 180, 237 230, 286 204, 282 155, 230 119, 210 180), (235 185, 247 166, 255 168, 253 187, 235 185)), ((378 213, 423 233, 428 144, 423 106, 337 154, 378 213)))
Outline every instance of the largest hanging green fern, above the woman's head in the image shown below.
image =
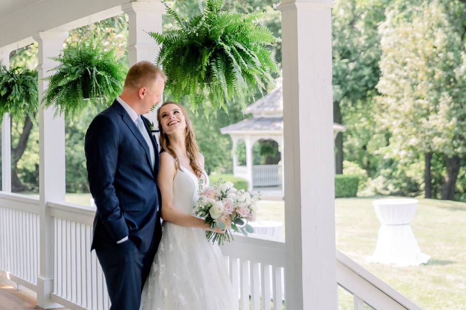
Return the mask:
POLYGON ((162 45, 157 64, 168 77, 166 91, 174 100, 186 95, 194 111, 200 105, 206 107, 207 99, 214 111, 227 112, 235 99, 245 107, 256 86, 262 92, 266 84, 274 85, 271 73, 278 73, 266 47, 279 39, 260 24, 265 13, 222 10, 222 3, 207 0, 203 8, 200 2, 200 15, 187 21, 164 3, 176 29, 149 33, 162 45))

